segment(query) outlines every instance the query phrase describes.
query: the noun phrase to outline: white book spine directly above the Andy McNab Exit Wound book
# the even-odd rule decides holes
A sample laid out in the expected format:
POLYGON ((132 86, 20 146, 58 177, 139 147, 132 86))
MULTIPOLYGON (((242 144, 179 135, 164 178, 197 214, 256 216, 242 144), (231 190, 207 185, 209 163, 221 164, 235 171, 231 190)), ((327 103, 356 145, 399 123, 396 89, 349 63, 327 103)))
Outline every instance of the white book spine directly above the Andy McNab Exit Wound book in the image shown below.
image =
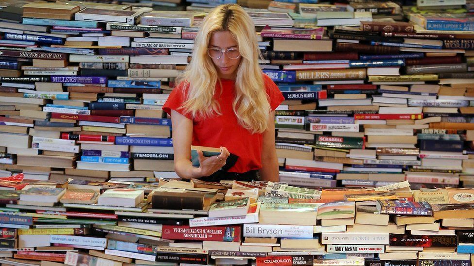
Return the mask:
POLYGON ((321 233, 322 244, 369 244, 389 245, 389 233, 321 233))

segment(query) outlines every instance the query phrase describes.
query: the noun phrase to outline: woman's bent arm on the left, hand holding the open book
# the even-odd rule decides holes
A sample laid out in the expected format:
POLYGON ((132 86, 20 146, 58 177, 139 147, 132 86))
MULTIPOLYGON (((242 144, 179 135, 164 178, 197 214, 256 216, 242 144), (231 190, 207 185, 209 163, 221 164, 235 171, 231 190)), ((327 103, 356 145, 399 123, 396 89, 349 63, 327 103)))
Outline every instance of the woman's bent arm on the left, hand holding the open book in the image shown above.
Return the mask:
POLYGON ((221 147, 220 155, 204 157, 202 151, 198 151, 199 167, 191 163, 191 143, 193 123, 186 116, 171 110, 171 122, 173 125, 173 148, 174 148, 174 171, 184 179, 200 178, 209 176, 225 165, 225 160, 230 155, 225 147, 221 147))

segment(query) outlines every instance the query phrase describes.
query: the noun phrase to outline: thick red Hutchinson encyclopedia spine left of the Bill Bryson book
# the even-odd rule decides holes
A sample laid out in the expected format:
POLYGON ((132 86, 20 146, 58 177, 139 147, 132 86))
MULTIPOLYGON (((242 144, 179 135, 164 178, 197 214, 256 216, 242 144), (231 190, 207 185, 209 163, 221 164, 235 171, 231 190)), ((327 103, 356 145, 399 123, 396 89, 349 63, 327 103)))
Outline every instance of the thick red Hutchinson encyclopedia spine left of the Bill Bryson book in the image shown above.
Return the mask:
POLYGON ((240 241, 240 226, 163 225, 161 237, 173 240, 240 241))

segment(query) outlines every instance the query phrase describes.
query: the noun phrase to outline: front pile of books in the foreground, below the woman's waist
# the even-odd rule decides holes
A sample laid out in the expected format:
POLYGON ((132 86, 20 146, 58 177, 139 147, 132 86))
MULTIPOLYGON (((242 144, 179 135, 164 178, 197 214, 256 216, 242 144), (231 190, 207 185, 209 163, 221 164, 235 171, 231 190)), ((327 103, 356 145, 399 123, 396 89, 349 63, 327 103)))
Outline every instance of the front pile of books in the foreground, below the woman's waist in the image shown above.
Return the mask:
POLYGON ((321 190, 261 181, 125 185, 1 190, 0 262, 470 266, 474 253, 471 189, 411 190, 407 181, 321 190))

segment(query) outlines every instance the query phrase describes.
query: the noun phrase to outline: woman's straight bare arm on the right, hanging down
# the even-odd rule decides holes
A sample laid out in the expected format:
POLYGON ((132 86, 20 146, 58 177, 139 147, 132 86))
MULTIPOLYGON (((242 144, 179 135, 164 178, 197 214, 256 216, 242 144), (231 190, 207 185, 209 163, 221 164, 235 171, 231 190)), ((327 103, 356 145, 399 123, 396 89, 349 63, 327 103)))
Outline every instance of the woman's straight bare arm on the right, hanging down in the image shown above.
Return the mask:
POLYGON ((270 114, 267 130, 263 132, 262 168, 260 179, 278 182, 278 157, 275 148, 275 112, 270 114))

